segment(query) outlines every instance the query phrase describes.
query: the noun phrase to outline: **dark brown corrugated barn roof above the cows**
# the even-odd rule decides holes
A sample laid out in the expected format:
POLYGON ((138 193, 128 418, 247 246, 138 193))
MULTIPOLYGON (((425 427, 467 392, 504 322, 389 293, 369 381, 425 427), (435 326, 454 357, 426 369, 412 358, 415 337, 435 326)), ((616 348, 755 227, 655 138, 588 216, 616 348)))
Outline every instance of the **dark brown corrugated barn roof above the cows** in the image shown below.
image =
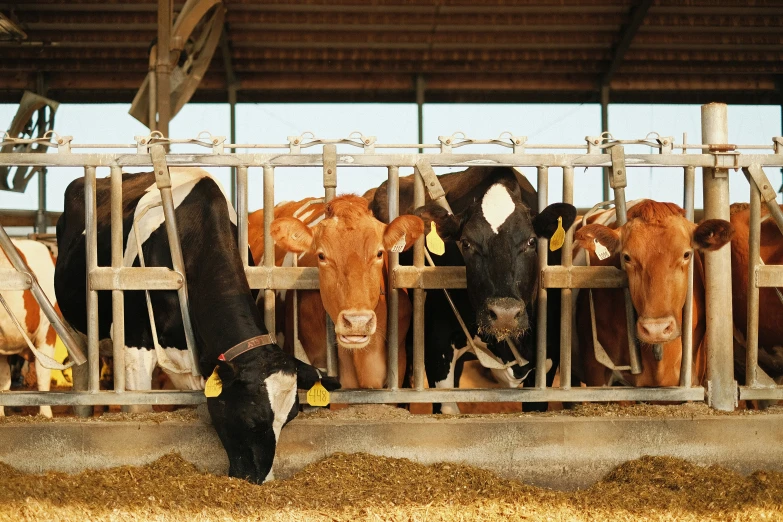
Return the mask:
MULTIPOLYGON (((602 84, 612 102, 783 101, 781 0, 224 3, 229 59, 218 49, 193 101, 226 101, 227 68, 240 102, 413 102, 417 77, 428 102, 589 102, 602 84)), ((0 101, 43 80, 61 102, 127 103, 148 70, 156 0, 0 12, 17 26, 0 31, 0 101)))

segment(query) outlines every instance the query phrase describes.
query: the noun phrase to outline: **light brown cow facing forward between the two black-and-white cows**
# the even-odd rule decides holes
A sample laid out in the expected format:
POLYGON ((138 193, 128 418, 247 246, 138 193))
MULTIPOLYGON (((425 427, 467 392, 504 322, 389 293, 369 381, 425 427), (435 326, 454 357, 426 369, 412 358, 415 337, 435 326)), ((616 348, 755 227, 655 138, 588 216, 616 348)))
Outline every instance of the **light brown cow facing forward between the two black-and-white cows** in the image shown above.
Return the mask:
MULTIPOLYGON (((399 248, 410 248, 424 231, 424 224, 415 216, 401 216, 385 225, 372 216, 367 204, 364 198, 346 195, 328 204, 310 198, 279 205, 271 230, 277 244, 276 265, 286 264, 285 253, 292 252, 301 254, 299 266, 318 267, 320 292, 299 292, 299 337, 310 362, 325 367, 325 312, 329 313, 335 324, 343 388, 386 385, 386 253, 398 243, 399 248)), ((256 263, 264 253, 262 212, 253 213, 249 222, 256 263)), ((293 301, 285 301, 284 344, 286 350, 293 351, 293 301)), ((404 293, 399 302, 398 385, 402 386, 411 306, 404 293)), ((278 331, 281 327, 278 321, 278 331)))

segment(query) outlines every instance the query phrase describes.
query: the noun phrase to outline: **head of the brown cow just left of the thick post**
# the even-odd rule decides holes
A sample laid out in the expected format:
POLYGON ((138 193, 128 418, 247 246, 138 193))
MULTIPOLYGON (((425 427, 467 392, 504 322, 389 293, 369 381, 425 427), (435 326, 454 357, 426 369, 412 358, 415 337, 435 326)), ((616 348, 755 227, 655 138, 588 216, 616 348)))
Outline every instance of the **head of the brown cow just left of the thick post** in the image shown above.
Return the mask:
MULTIPOLYGON (((636 336, 644 343, 661 344, 681 334, 693 251, 717 250, 733 234, 728 221, 708 219, 697 226, 685 219, 685 211, 677 205, 645 200, 628 210, 628 221, 622 227, 615 230, 591 224, 574 237, 591 252, 591 263, 598 263, 596 241, 620 255, 639 316, 636 336)), ((606 260, 610 261, 618 262, 617 258, 606 260)))

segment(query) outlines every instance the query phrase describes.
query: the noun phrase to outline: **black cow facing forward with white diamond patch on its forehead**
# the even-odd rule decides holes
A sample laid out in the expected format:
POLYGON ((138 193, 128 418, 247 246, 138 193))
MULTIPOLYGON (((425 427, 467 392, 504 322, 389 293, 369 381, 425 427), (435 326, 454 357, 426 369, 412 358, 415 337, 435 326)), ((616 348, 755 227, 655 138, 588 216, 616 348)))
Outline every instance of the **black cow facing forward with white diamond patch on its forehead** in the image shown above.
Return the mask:
MULTIPOLYGON (((466 267, 467 290, 450 290, 450 294, 474 342, 486 345, 497 366, 515 361, 506 339, 517 347, 524 364, 495 368, 495 377, 509 387, 522 383, 531 386, 535 379, 535 305, 540 284, 537 238, 551 238, 559 217, 568 229, 576 218, 576 209, 555 203, 538 213, 535 189, 523 175, 508 167, 471 167, 439 176, 439 180, 454 214, 432 201, 414 209, 411 176, 400 179, 401 213, 421 216, 425 231, 430 229, 430 222, 435 223, 446 243, 442 256, 432 255, 436 265, 466 267)), ((388 222, 386 183, 375 192, 370 206, 379 219, 388 222)), ((410 259, 401 258, 400 262, 409 264, 410 259)), ((559 264, 559 250, 550 252, 549 262, 559 264)), ((551 366, 547 383, 551 385, 560 345, 559 291, 550 291, 548 311, 547 365, 551 366)), ((427 292, 425 317, 424 357, 429 384, 458 387, 463 355, 468 355, 467 340, 442 292, 427 292)), ((525 409, 545 407, 530 404, 525 409)), ((454 403, 443 404, 441 411, 459 412, 454 403)))

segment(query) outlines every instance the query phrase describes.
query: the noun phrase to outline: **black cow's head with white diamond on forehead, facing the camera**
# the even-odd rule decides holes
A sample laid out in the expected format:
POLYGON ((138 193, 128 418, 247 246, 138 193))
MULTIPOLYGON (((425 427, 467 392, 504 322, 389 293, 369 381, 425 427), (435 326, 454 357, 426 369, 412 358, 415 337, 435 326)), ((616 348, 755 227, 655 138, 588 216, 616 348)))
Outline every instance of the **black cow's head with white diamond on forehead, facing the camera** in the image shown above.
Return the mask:
POLYGON ((415 213, 424 219, 425 228, 434 222, 444 241, 459 242, 479 333, 503 340, 528 330, 527 309, 538 284, 537 240, 552 237, 559 217, 568 229, 576 209, 556 203, 532 216, 519 185, 498 182, 461 215, 449 214, 435 203, 415 213))

